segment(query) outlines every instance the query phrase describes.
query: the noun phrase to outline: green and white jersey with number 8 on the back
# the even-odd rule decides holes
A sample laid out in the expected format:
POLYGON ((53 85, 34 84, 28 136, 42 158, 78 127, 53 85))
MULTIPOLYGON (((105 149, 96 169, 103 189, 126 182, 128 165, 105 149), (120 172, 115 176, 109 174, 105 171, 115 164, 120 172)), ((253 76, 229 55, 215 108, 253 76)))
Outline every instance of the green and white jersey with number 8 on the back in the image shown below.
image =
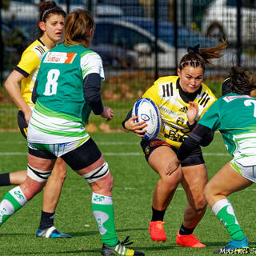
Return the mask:
POLYGON ((54 144, 90 138, 84 127, 91 110, 84 98, 83 79, 92 73, 104 80, 102 59, 81 45, 60 44, 42 58, 29 142, 54 144))

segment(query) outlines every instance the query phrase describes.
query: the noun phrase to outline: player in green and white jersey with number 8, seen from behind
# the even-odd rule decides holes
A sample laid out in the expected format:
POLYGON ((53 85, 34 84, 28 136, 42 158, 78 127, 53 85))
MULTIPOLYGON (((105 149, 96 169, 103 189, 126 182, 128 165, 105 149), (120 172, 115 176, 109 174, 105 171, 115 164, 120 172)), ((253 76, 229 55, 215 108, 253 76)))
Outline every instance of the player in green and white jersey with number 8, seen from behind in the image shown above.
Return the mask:
POLYGON ((36 100, 28 126, 27 178, 0 202, 0 226, 38 194, 62 158, 89 183, 92 209, 102 237, 102 255, 144 255, 119 242, 114 225, 113 177, 85 124, 90 111, 110 121, 114 113, 102 105, 102 59, 88 49, 94 37, 94 18, 75 10, 65 21, 63 43, 43 58, 32 95, 36 100))

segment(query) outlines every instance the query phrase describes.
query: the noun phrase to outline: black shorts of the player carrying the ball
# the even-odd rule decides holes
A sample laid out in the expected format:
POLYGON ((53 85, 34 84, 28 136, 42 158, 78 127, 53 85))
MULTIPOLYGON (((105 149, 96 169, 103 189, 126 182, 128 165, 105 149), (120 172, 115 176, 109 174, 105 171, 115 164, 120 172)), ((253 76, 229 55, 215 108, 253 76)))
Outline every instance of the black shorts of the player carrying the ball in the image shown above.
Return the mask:
MULTIPOLYGON (((172 150, 174 150, 175 153, 178 152, 178 150, 174 146, 171 146, 169 143, 163 142, 159 139, 153 139, 151 141, 142 139, 141 146, 142 146, 142 150, 145 155, 146 161, 149 161, 150 154, 153 152, 153 150, 155 150, 159 146, 169 146, 172 150)), ((185 160, 182 161, 182 167, 196 166, 202 163, 205 163, 205 161, 203 160, 203 157, 202 157, 202 150, 200 147, 198 147, 197 149, 193 150, 185 160)))

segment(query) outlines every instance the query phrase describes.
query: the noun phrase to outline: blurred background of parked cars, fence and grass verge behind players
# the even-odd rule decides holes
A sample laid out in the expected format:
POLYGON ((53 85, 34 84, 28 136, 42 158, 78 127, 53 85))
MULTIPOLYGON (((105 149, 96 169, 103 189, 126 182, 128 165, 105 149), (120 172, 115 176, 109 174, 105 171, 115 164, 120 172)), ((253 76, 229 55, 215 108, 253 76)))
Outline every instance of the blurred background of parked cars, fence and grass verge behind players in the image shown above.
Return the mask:
MULTIPOLYGON (((0 130, 18 130, 17 107, 3 87, 22 51, 38 38, 39 0, 0 2, 0 130)), ((93 114, 87 130, 121 131, 122 120, 154 81, 176 74, 188 46, 228 49, 207 66, 205 83, 219 97, 230 66, 256 68, 256 0, 59 0, 67 13, 83 8, 96 21, 90 46, 101 57, 102 99, 114 109, 110 123, 93 114)))

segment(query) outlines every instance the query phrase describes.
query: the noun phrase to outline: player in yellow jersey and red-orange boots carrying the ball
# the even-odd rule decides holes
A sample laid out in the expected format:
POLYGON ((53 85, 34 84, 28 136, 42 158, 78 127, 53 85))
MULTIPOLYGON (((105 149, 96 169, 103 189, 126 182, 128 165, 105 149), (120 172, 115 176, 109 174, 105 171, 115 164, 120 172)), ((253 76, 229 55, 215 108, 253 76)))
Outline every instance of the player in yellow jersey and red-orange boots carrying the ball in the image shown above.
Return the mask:
MULTIPOLYGON (((142 96, 156 103, 162 121, 157 138, 148 141, 142 139, 141 142, 147 162, 160 177, 154 189, 149 227, 153 241, 166 242, 163 218, 178 184, 181 183, 188 204, 176 242, 180 246, 206 247, 193 234, 206 211, 203 190, 206 186, 207 174, 201 148, 198 146, 193 150, 174 174, 167 176, 166 168, 197 121, 216 100, 211 90, 202 82, 203 75, 210 59, 220 58, 222 56, 220 52, 225 48, 226 42, 205 49, 200 49, 199 45, 190 47, 179 63, 178 76, 159 78, 142 96)), ((131 117, 130 111, 122 125, 143 138, 146 124, 135 123, 136 118, 131 117)))

